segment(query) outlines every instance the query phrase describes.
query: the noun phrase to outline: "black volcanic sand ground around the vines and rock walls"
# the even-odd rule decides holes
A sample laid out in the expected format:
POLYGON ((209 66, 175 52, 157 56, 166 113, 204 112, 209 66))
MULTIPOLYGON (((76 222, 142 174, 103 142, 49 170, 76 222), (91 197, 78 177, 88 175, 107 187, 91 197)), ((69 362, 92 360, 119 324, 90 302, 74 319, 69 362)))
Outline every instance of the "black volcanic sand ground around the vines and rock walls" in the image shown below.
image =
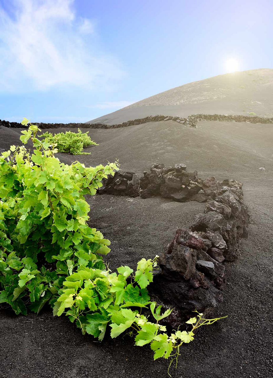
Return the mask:
MULTIPOLYGON (((234 178, 244 182, 251 213, 250 233, 240 257, 226 264, 227 289, 215 316, 227 319, 201 328, 181 349, 179 378, 256 378, 272 376, 272 125, 199 122, 198 129, 176 122, 153 122, 124 129, 90 130, 99 146, 91 155, 58 154, 65 163, 86 165, 119 158, 122 169, 141 172, 154 162, 186 163, 201 178, 234 178), (259 170, 265 167, 265 172, 259 170)), ((54 130, 60 132, 63 130, 54 130)), ((86 131, 86 130, 83 130, 86 131)), ((0 129, 0 148, 17 144, 19 130, 0 129)), ((159 254, 176 228, 187 227, 204 204, 176 203, 162 198, 131 199, 86 196, 90 225, 112 241, 106 256, 110 268, 136 266, 142 257, 159 254)), ((0 311, 0 377, 167 377, 167 361, 153 362, 149 347, 134 347, 129 336, 100 343, 50 309, 38 316, 0 311)))

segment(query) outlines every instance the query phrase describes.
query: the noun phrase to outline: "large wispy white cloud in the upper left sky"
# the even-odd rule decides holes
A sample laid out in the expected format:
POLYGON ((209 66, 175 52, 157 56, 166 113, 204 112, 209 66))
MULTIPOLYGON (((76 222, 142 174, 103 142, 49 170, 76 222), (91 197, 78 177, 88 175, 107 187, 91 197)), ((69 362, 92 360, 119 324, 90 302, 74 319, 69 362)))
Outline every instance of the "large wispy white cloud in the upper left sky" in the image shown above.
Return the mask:
POLYGON ((116 59, 94 48, 94 23, 77 19, 73 3, 12 0, 12 12, 0 6, 0 90, 102 89, 124 76, 116 59))

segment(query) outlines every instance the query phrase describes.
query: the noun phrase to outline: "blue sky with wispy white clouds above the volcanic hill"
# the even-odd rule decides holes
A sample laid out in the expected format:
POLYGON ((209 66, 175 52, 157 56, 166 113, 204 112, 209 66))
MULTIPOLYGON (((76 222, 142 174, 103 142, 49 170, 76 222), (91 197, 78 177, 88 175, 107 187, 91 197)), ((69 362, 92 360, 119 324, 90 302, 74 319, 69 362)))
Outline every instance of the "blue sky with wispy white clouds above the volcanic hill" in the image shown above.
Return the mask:
POLYGON ((0 0, 0 119, 86 122, 227 72, 273 68, 273 2, 0 0))

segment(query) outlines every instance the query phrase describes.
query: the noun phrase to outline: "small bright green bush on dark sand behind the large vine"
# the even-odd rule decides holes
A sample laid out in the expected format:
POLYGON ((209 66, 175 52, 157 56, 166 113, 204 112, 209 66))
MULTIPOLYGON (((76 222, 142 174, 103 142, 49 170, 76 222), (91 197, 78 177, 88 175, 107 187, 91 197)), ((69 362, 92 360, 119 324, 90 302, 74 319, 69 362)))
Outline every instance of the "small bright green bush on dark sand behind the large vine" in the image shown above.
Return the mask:
POLYGON ((66 131, 55 135, 46 132, 39 137, 48 141, 48 143, 56 143, 59 152, 67 152, 72 155, 89 155, 90 152, 82 152, 83 148, 97 146, 97 143, 91 140, 88 131, 82 133, 80 129, 77 133, 66 131))

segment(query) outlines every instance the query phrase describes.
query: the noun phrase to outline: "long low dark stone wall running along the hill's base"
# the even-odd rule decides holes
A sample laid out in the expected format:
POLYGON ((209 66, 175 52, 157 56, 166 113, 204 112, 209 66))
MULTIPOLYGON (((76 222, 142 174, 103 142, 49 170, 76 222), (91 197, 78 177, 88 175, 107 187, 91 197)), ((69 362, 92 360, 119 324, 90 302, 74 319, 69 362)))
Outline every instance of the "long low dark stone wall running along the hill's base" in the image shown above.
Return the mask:
MULTIPOLYGON (((196 122, 198 121, 228 121, 228 122, 248 122, 248 123, 273 123, 273 118, 258 117, 258 116, 243 116, 243 115, 221 115, 221 114, 193 114, 187 118, 182 118, 179 116, 165 116, 156 115, 148 116, 145 118, 133 119, 127 122, 106 125, 104 123, 40 123, 33 122, 35 125, 39 126, 40 129, 58 129, 60 127, 66 127, 70 129, 77 129, 78 127, 83 129, 116 129, 119 127, 127 127, 132 125, 140 125, 147 122, 158 122, 158 121, 175 121, 183 124, 184 126, 196 127, 196 122)), ((17 127, 22 128, 22 124, 18 122, 1 121, 0 126, 5 127, 17 127)))

